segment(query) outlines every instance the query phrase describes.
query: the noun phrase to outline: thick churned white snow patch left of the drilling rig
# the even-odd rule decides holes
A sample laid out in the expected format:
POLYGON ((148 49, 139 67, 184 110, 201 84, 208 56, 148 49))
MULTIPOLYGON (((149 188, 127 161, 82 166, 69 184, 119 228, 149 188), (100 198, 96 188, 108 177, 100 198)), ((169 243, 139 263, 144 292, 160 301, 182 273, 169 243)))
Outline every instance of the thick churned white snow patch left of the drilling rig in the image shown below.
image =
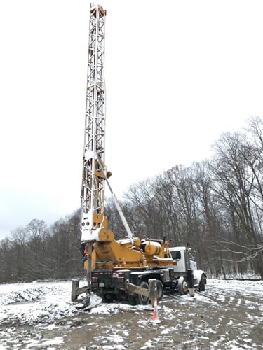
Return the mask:
POLYGON ((69 300, 71 282, 16 283, 0 285, 0 324, 18 321, 33 325, 52 323, 74 316, 76 307, 69 300))

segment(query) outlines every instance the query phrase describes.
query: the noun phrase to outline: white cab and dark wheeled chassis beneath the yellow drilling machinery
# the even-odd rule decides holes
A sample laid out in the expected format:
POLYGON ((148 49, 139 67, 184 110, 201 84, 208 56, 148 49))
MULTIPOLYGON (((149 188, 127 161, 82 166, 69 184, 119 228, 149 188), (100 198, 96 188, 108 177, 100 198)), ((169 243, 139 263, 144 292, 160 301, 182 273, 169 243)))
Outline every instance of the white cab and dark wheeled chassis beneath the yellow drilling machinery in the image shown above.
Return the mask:
MULTIPOLYGON (((158 301, 162 299, 163 293, 187 294, 189 286, 191 289, 204 291, 207 277, 203 270, 197 269, 195 251, 185 246, 168 249, 176 264, 172 265, 167 261, 166 267, 95 269, 92 272, 91 290, 103 302, 127 300, 130 304, 149 303, 149 295, 142 294, 140 289, 149 290, 149 279, 156 279, 158 301)), ((168 255, 166 258, 169 258, 168 255)), ((193 290, 190 290, 190 295, 194 296, 193 290)))

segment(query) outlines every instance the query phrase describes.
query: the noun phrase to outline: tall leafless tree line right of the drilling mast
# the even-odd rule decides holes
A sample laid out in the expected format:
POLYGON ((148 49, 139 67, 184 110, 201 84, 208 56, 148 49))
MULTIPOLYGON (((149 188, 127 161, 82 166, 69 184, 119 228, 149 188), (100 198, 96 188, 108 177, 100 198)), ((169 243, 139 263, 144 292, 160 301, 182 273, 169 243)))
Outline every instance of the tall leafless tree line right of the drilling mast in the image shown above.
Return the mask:
MULTIPOLYGON (((222 134, 213 148, 212 160, 131 186, 123 209, 135 235, 189 244, 210 276, 263 278, 263 119, 222 134)), ((111 214, 114 232, 123 235, 113 207, 111 214)))

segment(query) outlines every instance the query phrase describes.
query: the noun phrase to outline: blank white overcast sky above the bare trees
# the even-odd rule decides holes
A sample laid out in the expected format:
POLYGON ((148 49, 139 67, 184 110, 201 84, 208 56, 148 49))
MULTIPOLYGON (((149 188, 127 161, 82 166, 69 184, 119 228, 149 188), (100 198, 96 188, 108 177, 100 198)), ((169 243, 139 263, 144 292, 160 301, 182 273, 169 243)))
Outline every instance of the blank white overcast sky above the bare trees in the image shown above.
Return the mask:
MULTIPOLYGON (((210 158, 263 116, 261 0, 100 1, 107 10, 106 163, 123 191, 210 158)), ((0 238, 80 206, 84 0, 0 0, 0 238)))

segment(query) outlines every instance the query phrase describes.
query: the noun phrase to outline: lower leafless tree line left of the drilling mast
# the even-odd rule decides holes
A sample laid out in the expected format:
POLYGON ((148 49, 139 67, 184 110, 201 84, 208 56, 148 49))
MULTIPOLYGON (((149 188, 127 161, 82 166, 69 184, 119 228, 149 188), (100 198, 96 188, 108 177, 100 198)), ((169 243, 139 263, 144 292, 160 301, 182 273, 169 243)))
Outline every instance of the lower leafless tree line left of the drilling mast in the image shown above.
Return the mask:
POLYGON ((50 228, 34 219, 0 242, 0 283, 83 276, 79 211, 50 228))

